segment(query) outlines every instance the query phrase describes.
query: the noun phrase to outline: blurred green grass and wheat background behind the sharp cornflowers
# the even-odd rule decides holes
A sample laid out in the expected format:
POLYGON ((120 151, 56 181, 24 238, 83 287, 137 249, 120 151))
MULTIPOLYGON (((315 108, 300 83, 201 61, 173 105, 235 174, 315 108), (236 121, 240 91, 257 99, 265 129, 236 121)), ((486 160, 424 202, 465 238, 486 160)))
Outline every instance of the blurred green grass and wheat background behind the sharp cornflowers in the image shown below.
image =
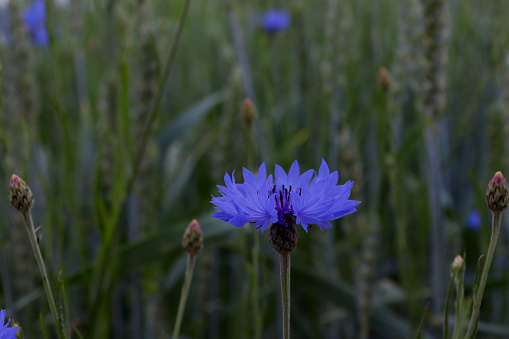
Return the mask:
MULTIPOLYGON (((280 337, 268 232, 209 201, 225 172, 323 158, 362 204, 299 230, 292 337, 415 338, 426 307, 423 337, 441 337, 449 265, 466 253, 471 303, 485 190, 509 173, 507 18, 506 1, 0 1, 1 307, 53 337, 16 173, 85 338, 170 337, 194 218, 181 337, 280 337)), ((508 239, 503 220, 478 338, 509 338, 508 239)))

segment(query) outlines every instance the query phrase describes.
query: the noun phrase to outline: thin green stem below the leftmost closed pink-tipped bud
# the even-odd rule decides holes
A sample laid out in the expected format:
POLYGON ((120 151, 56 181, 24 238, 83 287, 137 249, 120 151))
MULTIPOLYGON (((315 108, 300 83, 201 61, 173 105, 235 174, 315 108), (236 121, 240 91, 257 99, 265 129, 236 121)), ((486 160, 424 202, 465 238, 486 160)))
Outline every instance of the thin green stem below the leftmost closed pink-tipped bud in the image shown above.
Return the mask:
POLYGON ((53 316, 53 321, 55 322, 55 327, 57 329, 57 335, 59 339, 65 338, 65 335, 62 331, 62 326, 60 322, 60 317, 58 316, 57 306, 55 304, 55 299, 53 298, 53 292, 51 292, 51 286, 49 284, 48 274, 46 273, 46 266, 44 265, 44 261, 42 259, 41 250, 39 248, 39 243, 37 242, 37 236, 35 234, 34 222, 32 220, 32 213, 30 211, 22 213, 23 221, 25 222, 25 226, 28 232, 28 238, 30 238, 30 244, 32 244, 32 249, 34 251, 35 260, 39 265, 39 271, 41 271, 42 283, 44 285, 44 290, 46 291, 46 296, 48 298, 49 308, 51 310, 51 315, 53 316))

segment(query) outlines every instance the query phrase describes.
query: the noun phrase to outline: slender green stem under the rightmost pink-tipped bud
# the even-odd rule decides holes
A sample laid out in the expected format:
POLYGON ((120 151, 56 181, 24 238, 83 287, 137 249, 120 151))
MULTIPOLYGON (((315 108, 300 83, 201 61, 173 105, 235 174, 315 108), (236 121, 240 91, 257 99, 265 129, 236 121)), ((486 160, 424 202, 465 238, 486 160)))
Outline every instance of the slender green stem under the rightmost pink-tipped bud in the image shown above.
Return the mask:
POLYGON ((501 212, 492 212, 493 213, 493 225, 491 228, 491 239, 490 239, 490 247, 488 248, 488 255, 486 256, 486 263, 484 264, 484 269, 482 271, 481 281, 479 283, 479 288, 477 290, 477 294, 474 300, 474 307, 472 309, 472 315, 470 317, 470 323, 468 324, 466 339, 475 338, 475 329, 477 328, 477 322, 479 321, 479 311, 481 309, 482 296, 484 293, 484 287, 486 287, 486 280, 488 279, 488 272, 490 270, 491 261, 493 260, 493 254, 495 253, 495 248, 497 247, 498 233, 500 231, 500 224, 502 221, 502 213, 501 212))

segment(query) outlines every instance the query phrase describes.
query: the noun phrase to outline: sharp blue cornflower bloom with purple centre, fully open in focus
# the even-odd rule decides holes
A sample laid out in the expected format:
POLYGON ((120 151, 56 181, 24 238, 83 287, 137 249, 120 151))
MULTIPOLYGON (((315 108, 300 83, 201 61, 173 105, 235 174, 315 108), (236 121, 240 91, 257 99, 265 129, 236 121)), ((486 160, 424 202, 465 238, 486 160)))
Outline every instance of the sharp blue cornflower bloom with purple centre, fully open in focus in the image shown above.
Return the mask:
POLYGON ((300 175, 299 164, 295 161, 288 172, 276 164, 276 183, 272 174, 267 177, 265 163, 254 175, 244 168, 244 183, 235 183, 232 176, 224 176, 226 187, 218 185, 221 197, 212 196, 216 205, 213 217, 241 227, 248 222, 265 231, 271 223, 288 227, 289 223, 300 224, 307 232, 309 225, 320 229, 331 228, 331 220, 339 219, 356 211, 360 201, 348 200, 353 181, 337 185, 338 172, 329 173, 329 167, 322 159, 318 175, 309 170, 300 175), (311 180, 311 181, 310 181, 311 180))

